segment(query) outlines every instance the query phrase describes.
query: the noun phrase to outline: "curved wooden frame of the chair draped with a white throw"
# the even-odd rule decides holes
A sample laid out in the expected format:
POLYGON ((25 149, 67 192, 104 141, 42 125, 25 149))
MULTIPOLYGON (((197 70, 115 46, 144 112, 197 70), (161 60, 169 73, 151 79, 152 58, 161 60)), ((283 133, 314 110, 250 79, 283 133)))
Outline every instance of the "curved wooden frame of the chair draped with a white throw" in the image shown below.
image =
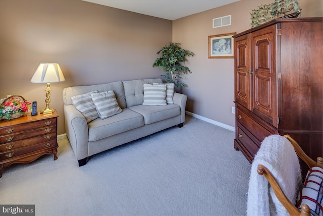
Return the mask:
MULTIPOLYGON (((289 135, 284 135, 291 144, 293 145, 297 155, 304 160, 304 162, 307 164, 309 168, 312 167, 320 167, 323 168, 323 158, 322 157, 317 157, 316 162, 311 159, 309 156, 305 154, 305 152, 302 150, 302 148, 298 145, 298 143, 289 135)), ((298 208, 286 197, 284 194, 282 188, 278 184, 276 178, 273 176, 273 174, 268 171, 266 167, 263 165, 258 165, 258 170, 257 170, 259 175, 264 176, 268 182, 271 184, 275 195, 277 196, 278 200, 284 205, 284 207, 287 209, 288 213, 290 215, 311 215, 310 214, 310 208, 306 204, 302 204, 301 211, 298 210, 298 208)))

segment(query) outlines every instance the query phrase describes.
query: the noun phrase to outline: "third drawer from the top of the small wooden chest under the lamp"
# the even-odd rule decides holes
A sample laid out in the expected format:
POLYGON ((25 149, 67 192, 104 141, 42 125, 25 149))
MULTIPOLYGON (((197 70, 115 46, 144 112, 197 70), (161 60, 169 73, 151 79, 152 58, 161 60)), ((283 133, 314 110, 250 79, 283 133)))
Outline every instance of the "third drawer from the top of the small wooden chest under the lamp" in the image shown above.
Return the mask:
POLYGON ((25 147, 28 145, 33 145, 35 143, 46 142, 49 140, 56 140, 56 133, 45 134, 37 137, 32 137, 29 139, 18 140, 16 142, 10 142, 7 144, 0 145, 0 152, 15 150, 20 147, 25 147))

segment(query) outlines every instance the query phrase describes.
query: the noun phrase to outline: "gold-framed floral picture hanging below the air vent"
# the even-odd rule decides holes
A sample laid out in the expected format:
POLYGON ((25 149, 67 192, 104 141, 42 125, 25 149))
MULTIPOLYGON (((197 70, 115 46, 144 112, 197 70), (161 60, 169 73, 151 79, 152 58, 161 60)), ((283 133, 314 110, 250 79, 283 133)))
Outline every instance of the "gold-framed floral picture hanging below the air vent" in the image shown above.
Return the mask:
POLYGON ((235 34, 236 32, 208 36, 208 58, 234 58, 234 44, 232 36, 235 34))

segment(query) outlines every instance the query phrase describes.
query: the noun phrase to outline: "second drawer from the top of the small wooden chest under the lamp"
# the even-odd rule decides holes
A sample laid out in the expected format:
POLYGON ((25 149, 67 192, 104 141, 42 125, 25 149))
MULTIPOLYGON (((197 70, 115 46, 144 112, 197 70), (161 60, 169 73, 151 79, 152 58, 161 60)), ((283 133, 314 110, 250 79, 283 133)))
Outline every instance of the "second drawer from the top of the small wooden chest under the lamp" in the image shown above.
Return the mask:
POLYGON ((10 135, 0 136, 0 144, 15 142, 21 139, 35 137, 43 134, 56 133, 56 126, 39 128, 36 130, 29 130, 23 133, 13 133, 10 135))

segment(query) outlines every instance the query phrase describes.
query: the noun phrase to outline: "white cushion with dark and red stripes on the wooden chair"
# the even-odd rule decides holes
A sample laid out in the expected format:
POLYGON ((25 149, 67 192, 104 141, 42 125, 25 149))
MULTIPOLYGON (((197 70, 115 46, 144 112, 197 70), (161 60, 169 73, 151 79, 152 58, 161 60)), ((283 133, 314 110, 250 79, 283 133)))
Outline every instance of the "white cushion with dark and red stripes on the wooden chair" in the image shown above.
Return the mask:
POLYGON ((323 215, 323 169, 312 167, 305 178, 303 188, 299 192, 297 202, 299 210, 302 204, 308 205, 311 215, 323 215))

